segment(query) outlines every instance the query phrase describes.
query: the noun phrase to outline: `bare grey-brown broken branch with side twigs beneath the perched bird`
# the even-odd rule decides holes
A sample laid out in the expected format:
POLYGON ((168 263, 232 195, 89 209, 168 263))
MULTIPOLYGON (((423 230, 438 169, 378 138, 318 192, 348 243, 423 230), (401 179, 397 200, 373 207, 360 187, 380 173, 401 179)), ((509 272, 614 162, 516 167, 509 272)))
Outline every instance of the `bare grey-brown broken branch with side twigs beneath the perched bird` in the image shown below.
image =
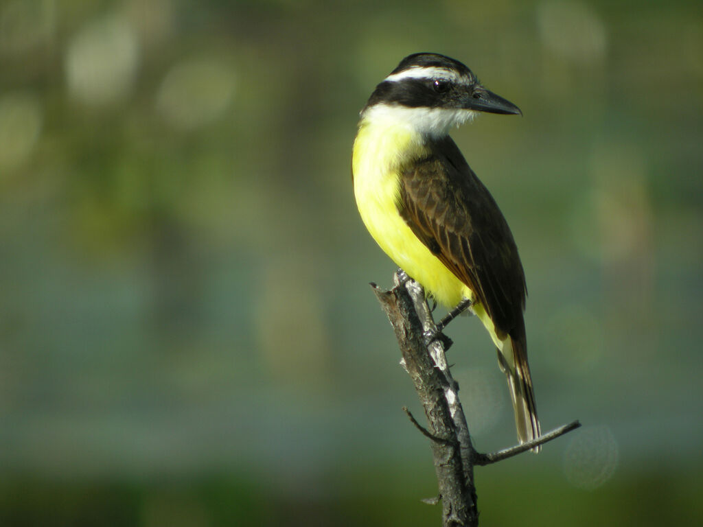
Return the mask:
POLYGON ((427 306, 423 288, 402 271, 394 275, 394 287, 390 291, 380 289, 373 283, 371 286, 395 330, 403 356, 401 365, 413 380, 415 391, 425 409, 429 424, 427 429, 415 420, 407 408, 403 408, 415 427, 430 439, 439 487, 439 498, 432 498, 431 501, 441 500, 444 527, 476 527, 478 509, 474 486, 475 465, 505 460, 566 434, 581 424, 574 421, 535 441, 496 453, 478 453, 472 445, 459 401, 459 386, 451 376, 444 355, 451 340, 441 333, 444 325, 460 313, 460 308, 452 311, 451 317, 444 318, 438 327, 427 306))

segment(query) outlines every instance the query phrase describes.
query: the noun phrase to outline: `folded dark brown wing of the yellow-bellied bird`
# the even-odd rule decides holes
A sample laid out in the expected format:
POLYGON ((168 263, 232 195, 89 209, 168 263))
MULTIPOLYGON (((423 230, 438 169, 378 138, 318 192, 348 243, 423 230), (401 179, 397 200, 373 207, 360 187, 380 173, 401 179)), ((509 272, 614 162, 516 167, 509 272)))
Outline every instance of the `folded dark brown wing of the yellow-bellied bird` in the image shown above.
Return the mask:
POLYGON ((401 174, 399 212, 413 233, 477 295, 496 330, 522 333, 524 271, 508 223, 447 137, 401 174))

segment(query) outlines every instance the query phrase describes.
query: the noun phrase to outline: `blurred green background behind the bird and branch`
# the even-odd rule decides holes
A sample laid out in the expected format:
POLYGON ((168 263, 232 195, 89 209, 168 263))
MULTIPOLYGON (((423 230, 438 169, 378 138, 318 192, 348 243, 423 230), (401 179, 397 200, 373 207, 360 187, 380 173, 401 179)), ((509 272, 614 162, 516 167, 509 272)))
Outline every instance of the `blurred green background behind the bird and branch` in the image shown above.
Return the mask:
MULTIPOLYGON (((439 525, 349 169, 416 51, 524 112, 453 136, 520 247, 543 428, 584 424, 477 469, 482 524, 703 522, 703 4, 12 0, 0 525, 439 525)), ((490 339, 448 333, 511 445, 490 339)))

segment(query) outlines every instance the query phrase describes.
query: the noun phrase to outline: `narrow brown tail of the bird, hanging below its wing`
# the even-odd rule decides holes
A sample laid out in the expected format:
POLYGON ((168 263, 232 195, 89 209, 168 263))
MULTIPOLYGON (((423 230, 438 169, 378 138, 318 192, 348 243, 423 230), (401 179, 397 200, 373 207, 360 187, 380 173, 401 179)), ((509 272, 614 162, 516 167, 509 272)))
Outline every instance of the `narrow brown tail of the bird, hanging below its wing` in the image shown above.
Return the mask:
MULTIPOLYGON (((539 420, 537 419, 537 408, 534 403, 534 391, 532 390, 532 377, 527 363, 527 339, 522 332, 515 332, 510 335, 510 349, 508 342, 505 342, 503 352, 498 350, 498 364, 508 378, 510 388, 510 399, 512 408, 515 410, 515 426, 517 427, 517 438, 520 443, 531 441, 540 436, 539 420), (506 357, 508 353, 512 356, 506 357)), ((539 452, 540 447, 532 449, 539 452)))

